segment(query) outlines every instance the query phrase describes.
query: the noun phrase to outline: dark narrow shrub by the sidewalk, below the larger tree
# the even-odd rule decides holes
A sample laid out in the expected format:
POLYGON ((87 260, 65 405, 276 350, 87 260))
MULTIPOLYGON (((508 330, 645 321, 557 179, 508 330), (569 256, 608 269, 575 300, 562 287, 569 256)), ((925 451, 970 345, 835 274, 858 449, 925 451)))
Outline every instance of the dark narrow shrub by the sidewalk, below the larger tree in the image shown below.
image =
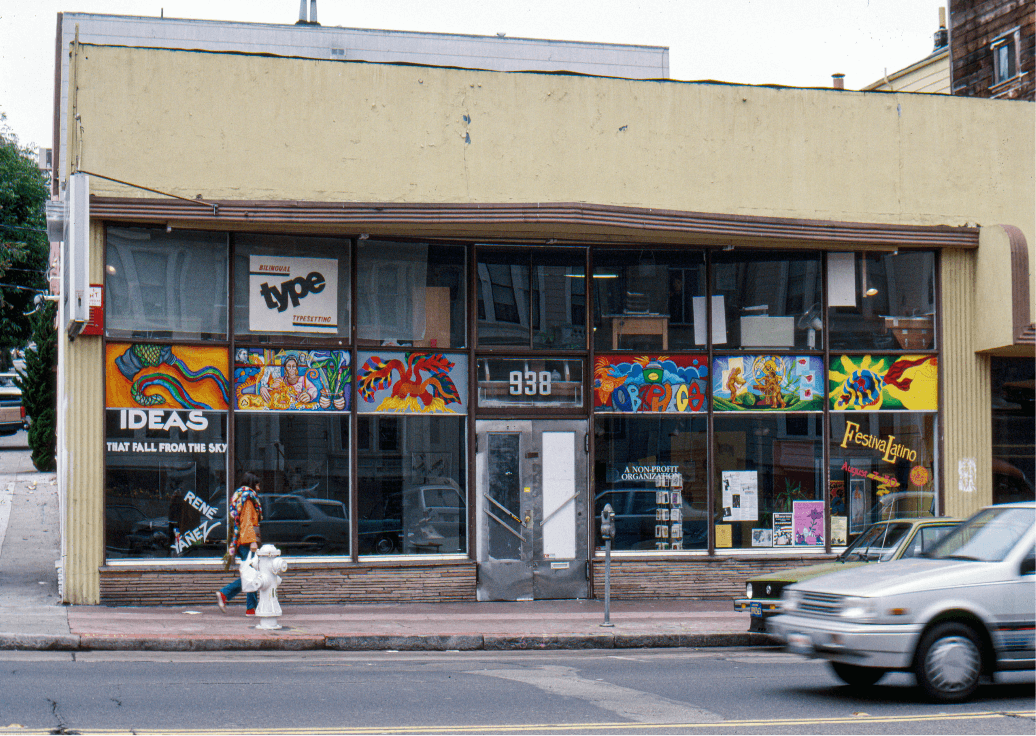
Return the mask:
POLYGON ((32 340, 36 349, 25 351, 25 373, 15 379, 22 390, 29 424, 32 464, 41 473, 54 470, 57 450, 58 334, 54 327, 57 305, 47 302, 32 315, 32 340))

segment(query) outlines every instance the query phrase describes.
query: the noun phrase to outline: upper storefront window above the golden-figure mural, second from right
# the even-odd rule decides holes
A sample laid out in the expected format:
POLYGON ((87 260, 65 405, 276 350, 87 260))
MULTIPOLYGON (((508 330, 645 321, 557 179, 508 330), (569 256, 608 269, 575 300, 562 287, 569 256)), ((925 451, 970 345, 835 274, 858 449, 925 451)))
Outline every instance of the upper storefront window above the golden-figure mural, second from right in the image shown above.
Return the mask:
POLYGON ((821 264, 821 256, 812 254, 716 254, 713 344, 822 349, 821 264))

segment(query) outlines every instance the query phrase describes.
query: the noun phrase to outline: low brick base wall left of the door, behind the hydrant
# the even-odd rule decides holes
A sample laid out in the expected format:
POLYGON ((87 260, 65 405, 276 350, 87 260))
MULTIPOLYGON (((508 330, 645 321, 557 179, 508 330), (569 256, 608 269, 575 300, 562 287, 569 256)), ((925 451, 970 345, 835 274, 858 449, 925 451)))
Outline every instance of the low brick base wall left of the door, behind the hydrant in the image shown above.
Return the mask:
MULTIPOLYGON (((282 603, 452 603, 474 600, 476 564, 406 565, 291 561, 277 589, 282 603)), ((100 568, 103 605, 213 605, 233 579, 221 567, 100 568)))

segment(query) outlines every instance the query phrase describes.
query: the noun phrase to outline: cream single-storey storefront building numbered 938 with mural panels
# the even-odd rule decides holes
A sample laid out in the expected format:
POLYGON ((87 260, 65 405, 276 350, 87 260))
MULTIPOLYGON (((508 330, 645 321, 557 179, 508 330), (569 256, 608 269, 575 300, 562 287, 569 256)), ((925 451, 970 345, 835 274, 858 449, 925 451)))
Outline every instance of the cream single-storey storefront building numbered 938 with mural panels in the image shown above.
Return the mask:
POLYGON ((600 595, 605 504, 613 595, 733 597, 992 498, 1031 105, 68 53, 70 602, 208 603, 243 471, 292 601, 600 595))

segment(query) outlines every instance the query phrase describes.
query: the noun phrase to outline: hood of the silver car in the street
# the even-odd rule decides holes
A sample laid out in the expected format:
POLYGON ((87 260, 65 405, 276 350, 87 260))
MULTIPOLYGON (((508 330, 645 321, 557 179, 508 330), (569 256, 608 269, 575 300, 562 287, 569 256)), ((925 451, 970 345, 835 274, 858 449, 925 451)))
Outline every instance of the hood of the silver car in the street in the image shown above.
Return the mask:
POLYGON ((965 577, 980 574, 981 570, 992 564, 996 563, 973 560, 893 560, 821 575, 796 585, 796 590, 854 596, 937 590, 948 585, 958 585, 965 577))

